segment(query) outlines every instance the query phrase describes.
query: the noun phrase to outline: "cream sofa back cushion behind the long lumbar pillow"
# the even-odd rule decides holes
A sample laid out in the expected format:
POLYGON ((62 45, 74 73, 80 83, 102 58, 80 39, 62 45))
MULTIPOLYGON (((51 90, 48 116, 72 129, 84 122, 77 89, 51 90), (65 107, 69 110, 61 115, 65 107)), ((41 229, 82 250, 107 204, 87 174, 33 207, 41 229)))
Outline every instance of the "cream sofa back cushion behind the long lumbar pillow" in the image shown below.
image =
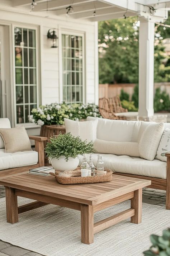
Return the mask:
POLYGON ((87 117, 88 121, 95 119, 98 119, 97 139, 111 142, 138 141, 138 132, 141 122, 87 117))

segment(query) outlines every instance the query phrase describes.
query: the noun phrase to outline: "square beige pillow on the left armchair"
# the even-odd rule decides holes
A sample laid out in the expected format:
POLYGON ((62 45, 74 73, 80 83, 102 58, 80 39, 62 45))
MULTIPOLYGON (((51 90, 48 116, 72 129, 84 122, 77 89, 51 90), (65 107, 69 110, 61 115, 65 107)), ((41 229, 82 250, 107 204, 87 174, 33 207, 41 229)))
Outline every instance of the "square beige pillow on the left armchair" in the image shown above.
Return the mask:
POLYGON ((30 140, 24 126, 10 129, 0 129, 4 140, 5 153, 32 150, 30 140))

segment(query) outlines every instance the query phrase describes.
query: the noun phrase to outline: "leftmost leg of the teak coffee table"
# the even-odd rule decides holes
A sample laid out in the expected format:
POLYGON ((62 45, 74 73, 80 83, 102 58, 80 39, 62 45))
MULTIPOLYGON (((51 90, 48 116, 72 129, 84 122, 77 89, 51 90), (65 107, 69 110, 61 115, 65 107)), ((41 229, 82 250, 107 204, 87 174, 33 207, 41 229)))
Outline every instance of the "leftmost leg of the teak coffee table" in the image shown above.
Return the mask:
POLYGON ((18 202, 15 189, 5 187, 6 193, 6 220, 8 223, 18 222, 18 202))

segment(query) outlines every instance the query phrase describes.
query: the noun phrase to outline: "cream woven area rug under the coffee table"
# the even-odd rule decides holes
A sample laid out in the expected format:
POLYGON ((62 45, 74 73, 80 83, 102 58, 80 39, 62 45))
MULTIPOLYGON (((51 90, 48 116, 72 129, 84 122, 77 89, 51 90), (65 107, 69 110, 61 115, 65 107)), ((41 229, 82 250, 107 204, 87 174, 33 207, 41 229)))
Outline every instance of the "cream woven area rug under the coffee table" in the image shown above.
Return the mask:
MULTIPOLYGON (((19 205, 32 200, 18 198, 19 205)), ((95 222, 129 208, 130 202, 96 213, 95 222)), ((142 256, 150 247, 149 236, 161 235, 170 226, 170 211, 143 203, 142 223, 127 219, 94 236, 94 243, 81 243, 80 211, 47 205, 19 215, 19 222, 6 223, 5 198, 0 200, 0 239, 46 256, 142 256)))

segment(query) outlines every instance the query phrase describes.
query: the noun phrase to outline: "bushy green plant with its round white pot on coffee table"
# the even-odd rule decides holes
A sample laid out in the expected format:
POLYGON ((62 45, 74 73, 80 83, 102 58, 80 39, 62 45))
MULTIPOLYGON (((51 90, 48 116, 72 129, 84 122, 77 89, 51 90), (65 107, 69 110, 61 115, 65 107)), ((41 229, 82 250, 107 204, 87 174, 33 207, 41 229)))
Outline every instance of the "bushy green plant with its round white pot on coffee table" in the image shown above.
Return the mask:
POLYGON ((52 167, 57 171, 73 171, 79 165, 78 155, 88 154, 94 151, 94 143, 82 141, 71 133, 53 136, 47 143, 45 152, 52 167))

